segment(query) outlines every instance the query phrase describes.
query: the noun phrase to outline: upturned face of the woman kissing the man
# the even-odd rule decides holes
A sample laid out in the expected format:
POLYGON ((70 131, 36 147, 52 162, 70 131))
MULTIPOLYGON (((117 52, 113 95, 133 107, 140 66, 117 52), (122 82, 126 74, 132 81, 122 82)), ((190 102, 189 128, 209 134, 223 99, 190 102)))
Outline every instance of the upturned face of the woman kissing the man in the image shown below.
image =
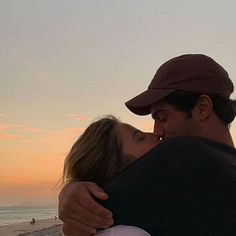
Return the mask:
POLYGON ((153 133, 142 132, 126 123, 118 124, 116 130, 123 142, 124 154, 132 155, 135 159, 159 143, 153 133))

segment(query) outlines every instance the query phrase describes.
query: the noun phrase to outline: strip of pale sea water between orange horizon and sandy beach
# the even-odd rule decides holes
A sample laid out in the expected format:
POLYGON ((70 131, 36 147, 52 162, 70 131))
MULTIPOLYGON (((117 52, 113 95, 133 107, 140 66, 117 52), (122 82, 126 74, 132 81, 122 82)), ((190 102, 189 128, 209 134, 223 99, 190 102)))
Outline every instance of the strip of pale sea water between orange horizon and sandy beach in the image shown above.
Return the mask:
POLYGON ((0 207, 0 226, 30 222, 34 217, 37 220, 55 218, 57 206, 12 206, 0 207))

